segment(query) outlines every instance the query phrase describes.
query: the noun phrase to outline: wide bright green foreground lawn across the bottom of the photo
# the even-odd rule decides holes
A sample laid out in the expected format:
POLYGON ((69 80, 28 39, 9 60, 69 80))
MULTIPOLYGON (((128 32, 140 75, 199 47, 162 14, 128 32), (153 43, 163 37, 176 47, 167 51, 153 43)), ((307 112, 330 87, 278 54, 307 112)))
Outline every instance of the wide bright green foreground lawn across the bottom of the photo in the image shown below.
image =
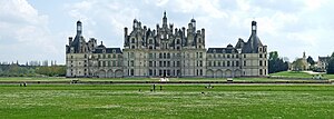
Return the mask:
POLYGON ((0 85, 0 118, 333 118, 334 86, 0 85), (139 89, 141 91, 139 91, 139 89), (204 92, 204 93, 202 93, 204 92))

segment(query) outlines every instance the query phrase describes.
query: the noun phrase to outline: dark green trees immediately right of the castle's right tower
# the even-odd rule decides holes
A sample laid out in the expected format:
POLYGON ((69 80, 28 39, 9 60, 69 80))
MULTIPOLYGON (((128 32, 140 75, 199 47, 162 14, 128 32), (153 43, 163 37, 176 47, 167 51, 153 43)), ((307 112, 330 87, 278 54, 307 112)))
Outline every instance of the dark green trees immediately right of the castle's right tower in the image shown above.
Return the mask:
POLYGON ((269 63, 268 63, 268 72, 279 72, 286 71, 288 69, 288 62, 284 61, 282 58, 278 58, 277 51, 269 52, 269 63))

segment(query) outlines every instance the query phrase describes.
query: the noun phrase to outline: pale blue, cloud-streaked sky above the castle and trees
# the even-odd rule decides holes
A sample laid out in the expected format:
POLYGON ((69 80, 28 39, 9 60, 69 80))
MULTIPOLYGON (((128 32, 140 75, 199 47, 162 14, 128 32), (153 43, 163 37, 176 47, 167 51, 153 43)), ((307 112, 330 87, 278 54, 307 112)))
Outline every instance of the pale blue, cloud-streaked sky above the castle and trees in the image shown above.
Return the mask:
POLYGON ((0 62, 63 65, 78 20, 86 39, 122 48, 125 27, 137 19, 155 29, 164 11, 176 28, 196 19, 197 29, 206 29, 206 48, 247 41, 255 20, 268 51, 289 61, 305 51, 316 60, 334 51, 333 6, 334 0, 0 0, 0 62))

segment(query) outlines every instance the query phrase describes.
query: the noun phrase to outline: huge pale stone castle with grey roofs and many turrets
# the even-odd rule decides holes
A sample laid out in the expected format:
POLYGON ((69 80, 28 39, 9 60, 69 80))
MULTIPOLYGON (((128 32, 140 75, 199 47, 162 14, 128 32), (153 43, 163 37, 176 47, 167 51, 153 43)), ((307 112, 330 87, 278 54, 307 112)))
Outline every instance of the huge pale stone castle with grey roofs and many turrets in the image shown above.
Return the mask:
POLYGON ((196 29, 191 19, 187 29, 174 28, 164 12, 163 24, 156 29, 134 20, 132 29, 124 29, 124 49, 107 48, 97 39, 82 37, 82 23, 77 22, 77 34, 66 46, 67 77, 197 77, 232 78, 265 77, 267 46, 257 37, 256 21, 247 42, 236 46, 208 48, 205 29, 196 29))

